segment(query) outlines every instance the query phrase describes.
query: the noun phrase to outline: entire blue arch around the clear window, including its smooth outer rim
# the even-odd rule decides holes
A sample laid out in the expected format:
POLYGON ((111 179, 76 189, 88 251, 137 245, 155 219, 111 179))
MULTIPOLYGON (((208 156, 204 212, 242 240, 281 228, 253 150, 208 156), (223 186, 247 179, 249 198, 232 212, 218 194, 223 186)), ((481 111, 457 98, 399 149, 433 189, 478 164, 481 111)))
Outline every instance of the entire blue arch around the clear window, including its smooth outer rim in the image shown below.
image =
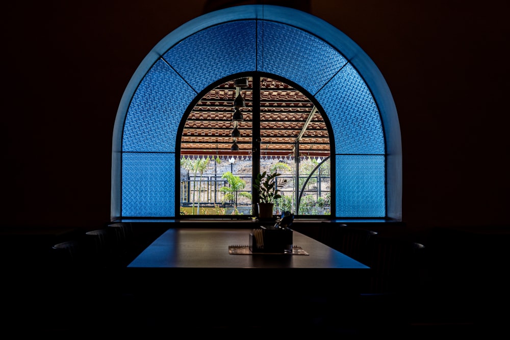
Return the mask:
POLYGON ((401 220, 400 128, 384 77, 338 29, 268 5, 191 20, 141 63, 115 122, 112 220, 179 217, 190 112, 211 89, 253 76, 298 88, 327 122, 329 218, 401 220))

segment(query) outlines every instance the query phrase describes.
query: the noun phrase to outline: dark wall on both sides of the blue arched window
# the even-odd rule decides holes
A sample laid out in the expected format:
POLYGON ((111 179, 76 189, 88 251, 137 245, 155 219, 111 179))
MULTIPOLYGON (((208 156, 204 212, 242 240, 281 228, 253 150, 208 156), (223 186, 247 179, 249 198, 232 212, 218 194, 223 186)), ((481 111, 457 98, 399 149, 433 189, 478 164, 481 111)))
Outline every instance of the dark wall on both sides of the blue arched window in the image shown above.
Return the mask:
MULTIPOLYGON (((2 225, 109 221, 112 132, 123 91, 151 48, 205 5, 4 5, 2 225)), ((507 225, 507 5, 314 0, 299 6, 358 43, 389 84, 402 133, 407 225, 507 225)))

